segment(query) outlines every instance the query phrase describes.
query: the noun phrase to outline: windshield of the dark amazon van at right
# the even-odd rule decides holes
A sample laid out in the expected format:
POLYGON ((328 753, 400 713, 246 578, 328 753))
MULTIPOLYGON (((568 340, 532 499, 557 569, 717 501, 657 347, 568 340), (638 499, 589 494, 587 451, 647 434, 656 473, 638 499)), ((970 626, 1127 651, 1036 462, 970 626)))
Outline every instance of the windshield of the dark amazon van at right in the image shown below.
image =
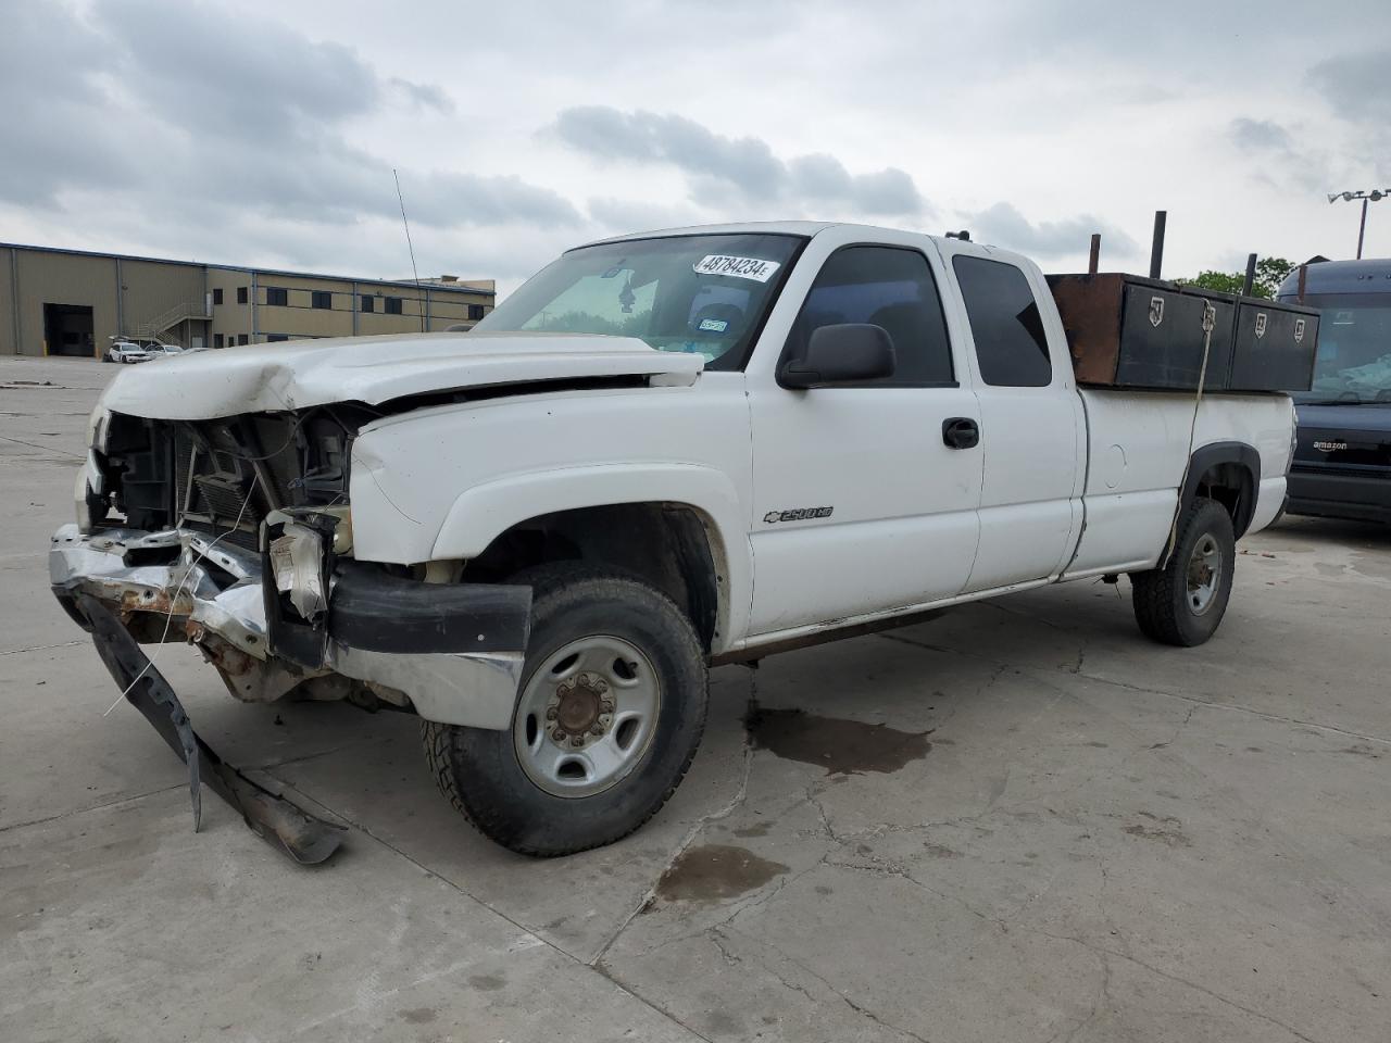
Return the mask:
POLYGON ((1296 402, 1391 403, 1391 293, 1310 293, 1317 307, 1313 385, 1296 402))

